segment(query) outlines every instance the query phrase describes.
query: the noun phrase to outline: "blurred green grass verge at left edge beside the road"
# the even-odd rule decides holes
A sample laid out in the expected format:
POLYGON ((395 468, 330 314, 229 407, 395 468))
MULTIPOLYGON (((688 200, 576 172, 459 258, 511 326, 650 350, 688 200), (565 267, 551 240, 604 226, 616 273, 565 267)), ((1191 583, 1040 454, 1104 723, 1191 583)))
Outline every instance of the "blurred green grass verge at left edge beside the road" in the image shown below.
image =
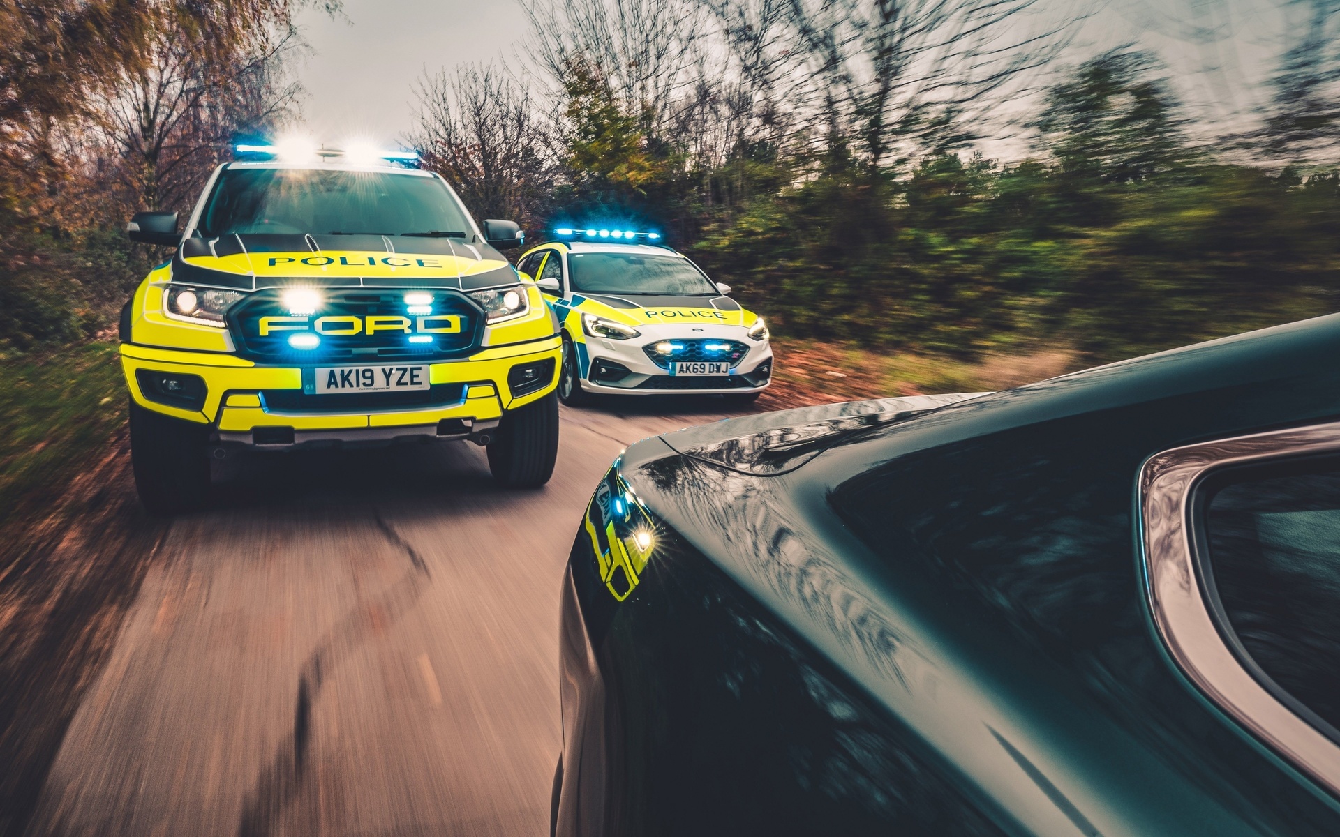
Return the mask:
POLYGON ((126 384, 113 344, 0 367, 0 532, 59 506, 125 423, 126 384))

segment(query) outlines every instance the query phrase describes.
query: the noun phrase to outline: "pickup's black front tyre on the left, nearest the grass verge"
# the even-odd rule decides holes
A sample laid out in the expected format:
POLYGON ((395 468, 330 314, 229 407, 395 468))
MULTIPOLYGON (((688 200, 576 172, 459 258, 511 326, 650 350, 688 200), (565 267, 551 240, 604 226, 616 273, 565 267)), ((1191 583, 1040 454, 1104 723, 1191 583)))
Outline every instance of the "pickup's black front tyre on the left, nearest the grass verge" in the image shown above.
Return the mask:
POLYGON ((130 462, 135 493, 150 514, 204 508, 209 497, 209 427, 130 402, 130 462))

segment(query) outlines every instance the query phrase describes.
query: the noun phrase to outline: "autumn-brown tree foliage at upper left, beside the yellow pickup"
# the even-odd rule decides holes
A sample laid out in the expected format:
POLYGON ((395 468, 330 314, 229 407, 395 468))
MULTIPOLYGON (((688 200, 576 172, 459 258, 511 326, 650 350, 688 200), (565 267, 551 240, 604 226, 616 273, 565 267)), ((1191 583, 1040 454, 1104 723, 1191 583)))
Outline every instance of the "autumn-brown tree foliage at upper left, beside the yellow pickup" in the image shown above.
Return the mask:
POLYGON ((188 209, 233 131, 296 90, 292 15, 338 0, 0 3, 0 358, 115 323, 147 248, 138 209, 188 209))

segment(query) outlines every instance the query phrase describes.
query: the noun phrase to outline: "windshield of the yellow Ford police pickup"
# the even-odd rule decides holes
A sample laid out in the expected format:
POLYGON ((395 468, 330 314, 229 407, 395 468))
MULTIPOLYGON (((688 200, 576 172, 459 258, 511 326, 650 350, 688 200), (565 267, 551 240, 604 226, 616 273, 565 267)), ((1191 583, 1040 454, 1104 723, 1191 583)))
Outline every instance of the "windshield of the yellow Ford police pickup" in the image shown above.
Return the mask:
MULTIPOLYGON (((200 218, 200 233, 433 234, 466 237, 460 204, 436 177, 386 171, 229 169, 200 218)), ((473 234, 473 232, 470 233, 473 234)))

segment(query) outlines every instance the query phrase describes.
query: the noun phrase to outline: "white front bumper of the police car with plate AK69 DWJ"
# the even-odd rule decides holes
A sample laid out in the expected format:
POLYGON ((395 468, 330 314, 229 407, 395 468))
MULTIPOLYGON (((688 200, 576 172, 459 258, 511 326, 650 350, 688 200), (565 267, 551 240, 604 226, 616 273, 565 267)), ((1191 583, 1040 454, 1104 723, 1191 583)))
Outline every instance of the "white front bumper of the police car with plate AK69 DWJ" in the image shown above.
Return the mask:
MULTIPOLYGON (((578 364, 582 370, 582 388, 587 392, 618 395, 726 395, 761 392, 772 383, 772 344, 756 343, 744 336, 736 325, 699 325, 691 331, 685 325, 638 325, 641 336, 630 340, 586 337, 576 344, 578 364), (646 347, 661 340, 708 339, 736 340, 749 351, 730 371, 729 386, 718 386, 718 378, 675 378, 647 358, 646 347), (603 368, 618 364, 628 371, 618 380, 602 380, 603 368)), ((622 375, 622 372, 619 372, 622 375)))

